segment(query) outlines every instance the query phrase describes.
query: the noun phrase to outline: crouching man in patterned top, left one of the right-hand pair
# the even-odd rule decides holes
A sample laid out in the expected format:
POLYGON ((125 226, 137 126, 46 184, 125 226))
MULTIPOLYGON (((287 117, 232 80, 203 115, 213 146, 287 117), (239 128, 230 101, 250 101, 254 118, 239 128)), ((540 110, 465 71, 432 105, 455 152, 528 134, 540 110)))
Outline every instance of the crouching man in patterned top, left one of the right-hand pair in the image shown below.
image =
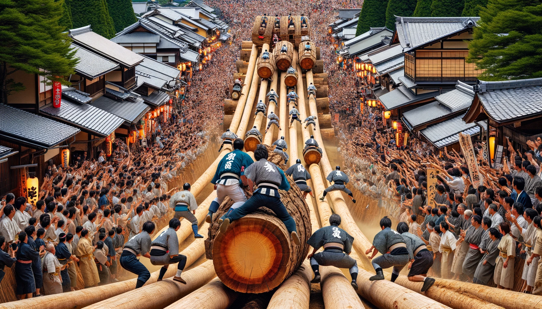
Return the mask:
POLYGON ((393 266, 391 272, 391 282, 395 282, 395 279, 399 277, 399 272, 410 261, 414 261, 412 255, 412 248, 410 247, 410 241, 405 242, 405 239, 401 234, 391 229, 391 220, 387 216, 380 219, 380 228, 382 231, 378 232, 373 239, 373 245, 365 254, 370 254, 373 259, 375 255, 380 252, 380 257, 372 260, 372 266, 375 267, 376 275, 373 275, 369 280, 384 280, 383 268, 390 268, 393 266), (373 249, 375 249, 373 251, 373 249))

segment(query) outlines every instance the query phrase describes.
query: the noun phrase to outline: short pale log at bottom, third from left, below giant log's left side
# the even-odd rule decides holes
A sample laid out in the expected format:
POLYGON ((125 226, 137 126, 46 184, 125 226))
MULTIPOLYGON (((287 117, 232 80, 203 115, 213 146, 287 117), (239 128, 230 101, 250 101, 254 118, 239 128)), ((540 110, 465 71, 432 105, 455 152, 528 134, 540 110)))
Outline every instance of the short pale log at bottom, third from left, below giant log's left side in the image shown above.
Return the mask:
POLYGON ((164 309, 226 309, 238 294, 215 278, 164 309))

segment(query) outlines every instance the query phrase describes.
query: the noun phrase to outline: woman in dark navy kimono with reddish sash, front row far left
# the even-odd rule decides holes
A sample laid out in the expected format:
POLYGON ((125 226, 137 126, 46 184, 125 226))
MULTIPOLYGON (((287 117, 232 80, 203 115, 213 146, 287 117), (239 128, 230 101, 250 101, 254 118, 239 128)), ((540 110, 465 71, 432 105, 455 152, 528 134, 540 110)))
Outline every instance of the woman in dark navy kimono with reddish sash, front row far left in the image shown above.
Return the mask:
POLYGON ((17 282, 16 294, 19 299, 32 298, 36 291, 32 262, 40 258, 40 253, 28 245, 27 233, 19 233, 17 261, 15 262, 15 280, 17 282))

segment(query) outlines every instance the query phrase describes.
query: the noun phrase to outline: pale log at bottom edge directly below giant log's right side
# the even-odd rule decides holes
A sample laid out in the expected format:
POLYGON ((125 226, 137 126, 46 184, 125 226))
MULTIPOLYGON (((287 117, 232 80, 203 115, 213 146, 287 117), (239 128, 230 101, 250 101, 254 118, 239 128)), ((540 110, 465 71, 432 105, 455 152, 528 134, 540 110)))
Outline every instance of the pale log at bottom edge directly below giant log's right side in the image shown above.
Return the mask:
POLYGON ((305 260, 301 267, 275 291, 267 309, 308 309, 311 297, 311 263, 305 260))

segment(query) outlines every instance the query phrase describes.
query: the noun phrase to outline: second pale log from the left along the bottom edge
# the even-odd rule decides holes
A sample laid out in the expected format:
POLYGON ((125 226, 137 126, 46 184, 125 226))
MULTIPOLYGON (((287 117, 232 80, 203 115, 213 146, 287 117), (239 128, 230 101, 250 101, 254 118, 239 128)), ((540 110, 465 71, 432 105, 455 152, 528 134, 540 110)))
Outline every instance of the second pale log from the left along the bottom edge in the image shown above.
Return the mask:
POLYGON ((162 309, 207 284, 215 276, 212 262, 205 261, 202 265, 183 272, 183 279, 186 280, 186 284, 172 279, 165 279, 145 289, 138 288, 114 299, 100 301, 92 306, 85 307, 85 309, 162 309))

